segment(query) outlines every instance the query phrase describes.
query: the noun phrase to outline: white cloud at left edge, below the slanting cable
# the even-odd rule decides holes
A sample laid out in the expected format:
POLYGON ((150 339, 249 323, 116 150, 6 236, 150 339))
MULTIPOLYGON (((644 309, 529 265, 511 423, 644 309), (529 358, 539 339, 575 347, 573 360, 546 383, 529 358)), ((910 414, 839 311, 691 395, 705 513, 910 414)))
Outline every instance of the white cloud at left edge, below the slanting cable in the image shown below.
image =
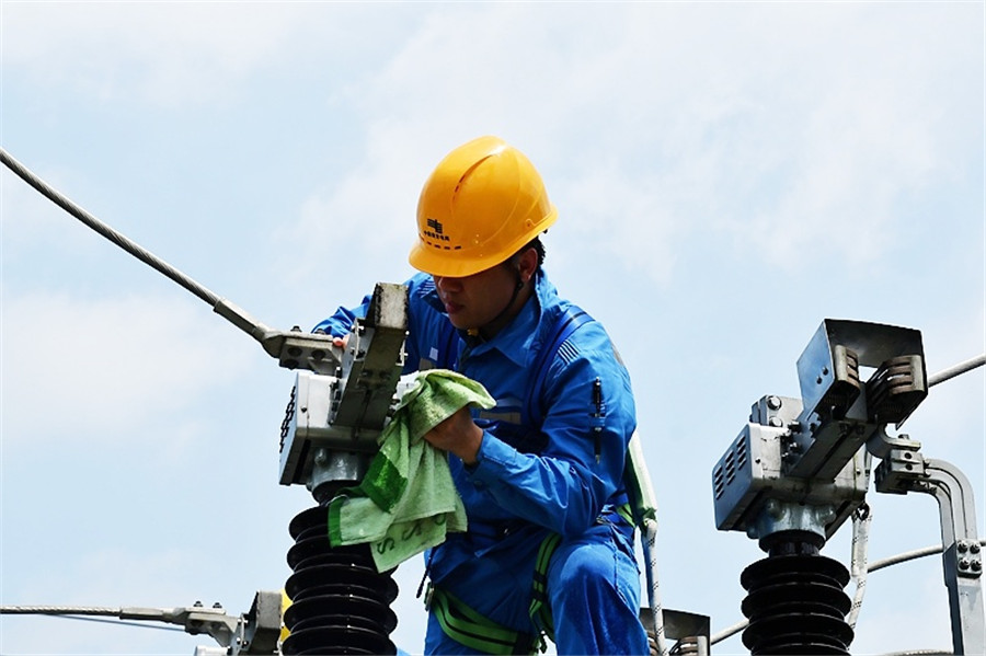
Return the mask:
MULTIPOLYGON (((3 440, 125 439, 241 375, 253 345, 185 299, 4 291, 3 440), (244 346, 245 344, 245 346, 244 346)), ((176 427, 190 438, 193 425, 176 427)))

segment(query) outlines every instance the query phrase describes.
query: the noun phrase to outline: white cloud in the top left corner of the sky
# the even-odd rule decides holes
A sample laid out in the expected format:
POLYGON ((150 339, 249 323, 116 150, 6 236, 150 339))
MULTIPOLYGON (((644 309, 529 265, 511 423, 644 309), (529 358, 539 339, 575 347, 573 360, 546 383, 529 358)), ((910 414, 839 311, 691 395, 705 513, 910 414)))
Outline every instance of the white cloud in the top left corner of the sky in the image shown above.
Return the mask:
POLYGON ((346 47, 352 35, 328 9, 299 2, 4 3, 4 68, 106 103, 228 102, 275 61, 317 66, 314 54, 346 47))

